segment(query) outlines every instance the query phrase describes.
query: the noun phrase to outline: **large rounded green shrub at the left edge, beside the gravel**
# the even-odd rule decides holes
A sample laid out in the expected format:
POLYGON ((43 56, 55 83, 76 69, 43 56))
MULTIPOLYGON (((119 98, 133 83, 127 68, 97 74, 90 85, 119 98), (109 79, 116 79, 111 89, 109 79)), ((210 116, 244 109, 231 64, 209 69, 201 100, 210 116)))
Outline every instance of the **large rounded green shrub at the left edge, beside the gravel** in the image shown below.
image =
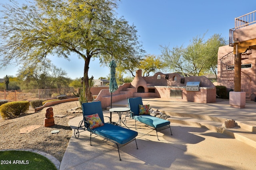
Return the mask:
POLYGON ((2 118, 17 117, 25 114, 29 109, 28 101, 8 102, 0 106, 2 118))

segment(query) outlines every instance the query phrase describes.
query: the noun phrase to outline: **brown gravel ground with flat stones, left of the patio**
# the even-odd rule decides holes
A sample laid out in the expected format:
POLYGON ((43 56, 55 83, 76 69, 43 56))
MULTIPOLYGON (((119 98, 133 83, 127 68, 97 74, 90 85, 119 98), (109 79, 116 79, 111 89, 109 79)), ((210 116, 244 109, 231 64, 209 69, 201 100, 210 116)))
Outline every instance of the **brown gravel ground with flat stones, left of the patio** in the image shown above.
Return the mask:
MULTIPOLYGON (((28 113, 12 119, 0 119, 0 149, 34 149, 46 152, 57 158, 60 162, 68 146, 72 135, 72 129, 68 125, 69 116, 80 116, 82 113, 68 113, 68 109, 75 108, 79 102, 67 102, 50 106, 53 108, 54 123, 52 127, 44 127, 44 118, 46 109, 34 113, 30 108, 28 113), (66 115, 65 117, 56 117, 56 115, 66 115), (20 129, 40 125, 29 133, 20 133, 20 129), (59 130, 52 134, 51 131, 59 130)), ((80 109, 78 109, 80 110, 80 109)))

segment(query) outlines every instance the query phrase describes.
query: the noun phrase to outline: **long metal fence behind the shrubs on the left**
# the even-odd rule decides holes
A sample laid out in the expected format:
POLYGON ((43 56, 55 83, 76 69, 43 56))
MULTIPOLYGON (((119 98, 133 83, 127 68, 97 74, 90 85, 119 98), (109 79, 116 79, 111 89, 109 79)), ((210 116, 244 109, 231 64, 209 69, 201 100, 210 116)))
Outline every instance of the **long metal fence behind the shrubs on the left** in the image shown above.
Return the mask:
POLYGON ((75 96, 78 89, 56 88, 56 89, 34 89, 34 90, 0 90, 0 100, 31 101, 39 99, 51 99, 60 95, 75 96))

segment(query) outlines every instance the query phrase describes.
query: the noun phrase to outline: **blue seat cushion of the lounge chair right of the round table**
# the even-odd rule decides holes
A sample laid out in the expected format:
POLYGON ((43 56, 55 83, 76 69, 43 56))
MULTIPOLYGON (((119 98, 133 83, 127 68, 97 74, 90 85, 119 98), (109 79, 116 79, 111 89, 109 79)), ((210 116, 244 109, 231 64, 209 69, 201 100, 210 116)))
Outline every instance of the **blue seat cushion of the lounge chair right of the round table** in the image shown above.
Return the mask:
POLYGON ((163 127, 166 125, 170 125, 170 121, 164 120, 158 117, 149 116, 149 115, 138 115, 134 116, 135 120, 140 121, 141 123, 145 123, 154 128, 163 127))

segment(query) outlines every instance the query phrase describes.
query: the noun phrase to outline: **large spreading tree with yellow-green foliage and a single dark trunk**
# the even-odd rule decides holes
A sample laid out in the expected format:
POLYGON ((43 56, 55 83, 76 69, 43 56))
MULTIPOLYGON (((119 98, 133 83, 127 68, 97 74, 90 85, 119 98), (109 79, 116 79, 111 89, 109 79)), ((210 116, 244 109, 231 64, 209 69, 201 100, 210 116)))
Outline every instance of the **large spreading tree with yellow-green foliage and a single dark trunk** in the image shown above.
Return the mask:
MULTIPOLYGON (((11 0, 12 2, 12 0, 11 0)), ((116 0, 34 0, 20 6, 3 5, 0 21, 0 61, 37 63, 49 55, 84 59, 84 95, 90 97, 91 59, 126 64, 140 60, 144 51, 134 25, 114 11, 116 0)))

